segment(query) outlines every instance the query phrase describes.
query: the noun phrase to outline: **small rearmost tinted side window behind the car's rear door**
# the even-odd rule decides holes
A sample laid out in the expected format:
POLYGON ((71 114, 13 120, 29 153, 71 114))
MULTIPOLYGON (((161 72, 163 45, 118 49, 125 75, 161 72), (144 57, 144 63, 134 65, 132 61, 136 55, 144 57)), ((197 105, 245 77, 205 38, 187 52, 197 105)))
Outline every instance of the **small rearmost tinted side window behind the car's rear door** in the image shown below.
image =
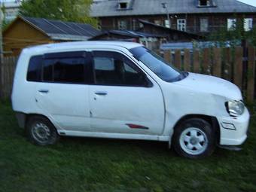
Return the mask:
POLYGON ((32 56, 29 61, 27 81, 41 81, 42 56, 32 56))

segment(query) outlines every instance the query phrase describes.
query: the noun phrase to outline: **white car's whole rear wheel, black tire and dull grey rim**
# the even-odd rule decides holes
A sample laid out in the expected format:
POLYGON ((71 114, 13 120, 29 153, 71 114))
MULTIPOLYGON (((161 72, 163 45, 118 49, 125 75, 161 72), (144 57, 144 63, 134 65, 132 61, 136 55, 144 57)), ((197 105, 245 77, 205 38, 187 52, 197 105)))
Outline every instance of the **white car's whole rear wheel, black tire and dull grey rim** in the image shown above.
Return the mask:
POLYGON ((26 123, 26 135, 30 142, 41 146, 53 145, 59 139, 56 128, 50 120, 41 116, 29 118, 26 123))

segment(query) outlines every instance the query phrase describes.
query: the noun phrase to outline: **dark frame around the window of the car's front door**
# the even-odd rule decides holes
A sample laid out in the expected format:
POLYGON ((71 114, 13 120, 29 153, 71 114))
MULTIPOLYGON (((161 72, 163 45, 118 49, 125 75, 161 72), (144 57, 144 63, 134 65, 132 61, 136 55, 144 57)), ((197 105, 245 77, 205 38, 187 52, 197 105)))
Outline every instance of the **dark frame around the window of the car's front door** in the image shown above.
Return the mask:
POLYGON ((139 68, 139 66, 136 65, 135 62, 133 62, 132 59, 130 59, 128 56, 126 56, 123 53, 120 53, 119 51, 116 50, 92 50, 92 57, 91 57, 91 69, 93 73, 93 85, 96 86, 108 86, 108 87, 145 87, 145 88, 150 88, 153 87, 153 83, 151 80, 149 80, 148 76, 146 75, 145 72, 143 72, 142 69, 139 68), (115 53, 115 54, 120 54, 123 58, 127 59, 133 66, 130 65, 130 63, 126 63, 126 65, 130 66, 132 69, 134 68, 136 72, 139 72, 139 74, 142 74, 145 77, 145 85, 127 85, 127 84, 97 84, 96 83, 96 72, 95 72, 95 66, 94 66, 94 55, 96 52, 104 52, 104 53, 115 53))

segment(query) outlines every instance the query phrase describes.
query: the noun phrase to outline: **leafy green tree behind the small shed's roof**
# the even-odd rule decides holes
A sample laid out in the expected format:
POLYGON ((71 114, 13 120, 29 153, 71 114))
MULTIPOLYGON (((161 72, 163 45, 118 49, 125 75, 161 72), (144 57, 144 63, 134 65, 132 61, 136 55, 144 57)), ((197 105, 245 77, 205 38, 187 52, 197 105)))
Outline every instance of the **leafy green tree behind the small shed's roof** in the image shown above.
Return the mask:
POLYGON ((89 16, 93 0, 26 0, 20 14, 25 17, 42 17, 50 20, 88 23, 97 26, 98 21, 89 16))

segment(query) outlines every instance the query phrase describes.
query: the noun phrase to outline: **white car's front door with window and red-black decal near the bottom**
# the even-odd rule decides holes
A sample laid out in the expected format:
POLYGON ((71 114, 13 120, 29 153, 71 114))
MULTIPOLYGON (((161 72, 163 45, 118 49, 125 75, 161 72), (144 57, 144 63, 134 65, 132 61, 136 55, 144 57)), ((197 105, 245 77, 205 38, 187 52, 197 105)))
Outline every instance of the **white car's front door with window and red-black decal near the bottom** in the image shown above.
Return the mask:
POLYGON ((93 51, 89 86, 91 128, 98 133, 160 135, 164 104, 160 87, 123 53, 93 51))

